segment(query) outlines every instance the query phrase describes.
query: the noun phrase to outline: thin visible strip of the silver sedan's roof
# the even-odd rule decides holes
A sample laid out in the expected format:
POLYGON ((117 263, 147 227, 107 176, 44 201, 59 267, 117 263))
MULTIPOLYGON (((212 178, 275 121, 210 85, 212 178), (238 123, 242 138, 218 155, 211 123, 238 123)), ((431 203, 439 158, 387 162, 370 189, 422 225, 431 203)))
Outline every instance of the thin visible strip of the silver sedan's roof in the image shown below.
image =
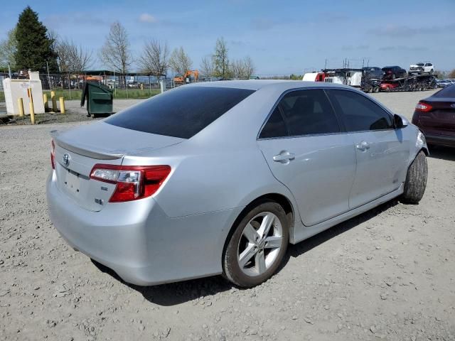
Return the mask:
MULTIPOLYGON (((188 85, 187 85, 188 86, 188 85)), ((282 90, 296 87, 344 87, 347 85, 329 82, 306 82, 301 80, 219 80, 216 82, 197 82, 189 86, 193 87, 230 87, 234 89, 259 90, 263 87, 279 87, 282 90)))

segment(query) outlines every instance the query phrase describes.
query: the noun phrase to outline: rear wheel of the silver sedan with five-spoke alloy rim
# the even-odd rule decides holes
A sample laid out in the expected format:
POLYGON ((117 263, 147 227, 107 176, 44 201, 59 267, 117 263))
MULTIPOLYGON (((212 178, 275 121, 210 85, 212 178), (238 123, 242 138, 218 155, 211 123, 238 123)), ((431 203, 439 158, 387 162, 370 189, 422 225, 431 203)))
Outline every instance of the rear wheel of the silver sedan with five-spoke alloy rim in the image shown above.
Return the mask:
POLYGON ((274 201, 257 202, 237 220, 228 237, 223 253, 223 276, 242 288, 257 286, 277 271, 288 244, 289 220, 283 207, 274 201), (272 222, 264 235, 266 219, 272 222), (256 234, 251 233, 251 228, 256 234), (272 244, 267 247, 267 241, 273 241, 275 248, 270 247, 272 244))

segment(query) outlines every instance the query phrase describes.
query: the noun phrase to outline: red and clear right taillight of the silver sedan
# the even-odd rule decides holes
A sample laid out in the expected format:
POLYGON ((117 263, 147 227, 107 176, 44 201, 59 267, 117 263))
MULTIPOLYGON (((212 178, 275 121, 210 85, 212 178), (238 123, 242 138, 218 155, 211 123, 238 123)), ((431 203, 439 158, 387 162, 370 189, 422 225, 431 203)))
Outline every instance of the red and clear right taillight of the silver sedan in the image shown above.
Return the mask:
POLYGON ((124 202, 149 197, 156 193, 171 173, 170 166, 115 166, 97 164, 90 172, 90 178, 114 183, 109 202, 124 202))

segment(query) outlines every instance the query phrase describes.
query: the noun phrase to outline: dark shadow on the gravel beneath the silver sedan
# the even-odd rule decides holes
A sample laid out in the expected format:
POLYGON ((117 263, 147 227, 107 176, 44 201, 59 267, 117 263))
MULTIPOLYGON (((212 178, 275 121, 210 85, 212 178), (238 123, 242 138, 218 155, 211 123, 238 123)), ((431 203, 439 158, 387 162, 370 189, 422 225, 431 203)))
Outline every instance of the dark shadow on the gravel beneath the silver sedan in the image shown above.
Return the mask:
MULTIPOLYGON (((353 217, 346 222, 337 224, 334 227, 327 229, 326 231, 316 234, 314 237, 304 240, 303 242, 295 245, 290 244, 287 255, 284 256, 284 260, 279 266, 277 272, 281 271, 286 266, 291 257, 299 257, 304 255, 311 249, 314 249, 315 247, 323 244, 323 242, 327 242, 333 237, 338 236, 338 234, 342 234, 343 232, 346 232, 349 229, 352 229, 353 227, 356 227, 359 224, 370 220, 371 218, 379 215, 381 212, 384 212, 390 207, 397 205, 397 203, 398 200, 396 199, 385 202, 384 204, 375 207, 372 210, 363 213, 362 215, 358 215, 357 217, 353 217)), ((158 286, 136 286, 123 281, 122 278, 120 278, 112 269, 107 268, 107 266, 104 266, 94 260, 92 260, 92 263, 95 264, 95 266, 97 266, 100 271, 111 275, 118 281, 124 283, 124 285, 129 286, 129 288, 132 288, 138 293, 141 293, 141 295, 144 296, 147 301, 163 306, 178 305, 193 300, 197 302, 198 299, 205 296, 213 296, 217 293, 222 293, 231 289, 247 290, 235 287, 232 285, 232 283, 226 281, 222 276, 198 278, 189 281, 161 284, 158 286)), ((207 301, 203 301, 203 303, 210 304, 207 301)))

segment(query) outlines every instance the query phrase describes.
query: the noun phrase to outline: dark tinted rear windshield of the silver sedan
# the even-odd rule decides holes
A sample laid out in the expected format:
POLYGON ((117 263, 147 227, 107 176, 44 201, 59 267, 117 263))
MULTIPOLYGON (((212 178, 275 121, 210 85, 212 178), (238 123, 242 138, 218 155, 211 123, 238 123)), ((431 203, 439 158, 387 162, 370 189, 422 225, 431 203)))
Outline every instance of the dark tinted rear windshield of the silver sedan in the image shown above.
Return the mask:
POLYGON ((181 87, 114 114, 106 123, 151 134, 190 139, 255 90, 181 87))

